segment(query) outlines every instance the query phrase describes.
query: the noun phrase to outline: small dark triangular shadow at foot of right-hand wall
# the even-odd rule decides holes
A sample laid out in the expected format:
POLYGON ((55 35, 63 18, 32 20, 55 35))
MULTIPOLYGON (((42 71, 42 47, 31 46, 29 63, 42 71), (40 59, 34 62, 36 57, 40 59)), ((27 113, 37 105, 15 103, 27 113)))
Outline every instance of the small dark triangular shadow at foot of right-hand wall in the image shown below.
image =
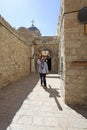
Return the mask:
POLYGON ((87 119, 87 106, 71 106, 69 105, 73 110, 75 110, 77 113, 81 114, 84 118, 87 119))

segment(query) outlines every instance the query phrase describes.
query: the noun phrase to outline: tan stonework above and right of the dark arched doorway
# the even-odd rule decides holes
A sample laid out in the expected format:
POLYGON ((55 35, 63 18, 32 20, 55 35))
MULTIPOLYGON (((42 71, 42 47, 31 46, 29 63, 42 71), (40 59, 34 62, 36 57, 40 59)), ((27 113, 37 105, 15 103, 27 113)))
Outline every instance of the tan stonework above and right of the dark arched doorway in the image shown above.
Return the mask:
POLYGON ((35 53, 39 50, 50 50, 51 52, 51 71, 57 73, 58 72, 58 41, 56 37, 42 37, 36 40, 36 44, 34 46, 35 53))

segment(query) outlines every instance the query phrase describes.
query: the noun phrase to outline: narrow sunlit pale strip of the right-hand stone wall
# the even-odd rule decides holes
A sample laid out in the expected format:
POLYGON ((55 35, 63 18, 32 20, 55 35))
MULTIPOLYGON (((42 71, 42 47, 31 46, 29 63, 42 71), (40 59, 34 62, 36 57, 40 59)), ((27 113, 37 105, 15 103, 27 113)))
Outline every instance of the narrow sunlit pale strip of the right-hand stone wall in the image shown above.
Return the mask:
POLYGON ((60 15, 58 19, 58 74, 61 75, 61 93, 65 100, 65 30, 64 30, 64 1, 60 1, 60 15))

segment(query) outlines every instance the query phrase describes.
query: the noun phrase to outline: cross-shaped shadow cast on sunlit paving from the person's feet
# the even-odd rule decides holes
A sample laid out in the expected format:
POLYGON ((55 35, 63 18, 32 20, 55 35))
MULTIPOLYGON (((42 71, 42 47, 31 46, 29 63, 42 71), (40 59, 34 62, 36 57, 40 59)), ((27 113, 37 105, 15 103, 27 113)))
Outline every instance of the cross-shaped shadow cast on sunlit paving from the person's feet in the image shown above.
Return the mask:
POLYGON ((55 102, 57 104, 58 109, 60 111, 62 111, 63 109, 62 109, 62 107, 61 107, 61 105, 60 105, 60 103, 59 103, 59 101, 57 99, 57 98, 60 97, 60 94, 57 91, 57 89, 56 88, 52 88, 51 85, 49 85, 49 88, 46 88, 45 91, 47 91, 50 94, 49 95, 50 98, 54 98, 54 100, 55 100, 55 102))

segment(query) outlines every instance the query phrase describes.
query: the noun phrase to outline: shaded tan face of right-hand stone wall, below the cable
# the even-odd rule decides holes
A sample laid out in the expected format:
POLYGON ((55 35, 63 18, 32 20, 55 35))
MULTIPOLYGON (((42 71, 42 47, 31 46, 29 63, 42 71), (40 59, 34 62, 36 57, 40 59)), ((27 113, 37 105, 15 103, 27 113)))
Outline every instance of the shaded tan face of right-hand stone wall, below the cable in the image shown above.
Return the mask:
POLYGON ((86 104, 87 66, 74 64, 74 61, 87 61, 87 36, 84 25, 77 20, 77 14, 67 14, 65 18, 65 100, 70 104, 86 104))

